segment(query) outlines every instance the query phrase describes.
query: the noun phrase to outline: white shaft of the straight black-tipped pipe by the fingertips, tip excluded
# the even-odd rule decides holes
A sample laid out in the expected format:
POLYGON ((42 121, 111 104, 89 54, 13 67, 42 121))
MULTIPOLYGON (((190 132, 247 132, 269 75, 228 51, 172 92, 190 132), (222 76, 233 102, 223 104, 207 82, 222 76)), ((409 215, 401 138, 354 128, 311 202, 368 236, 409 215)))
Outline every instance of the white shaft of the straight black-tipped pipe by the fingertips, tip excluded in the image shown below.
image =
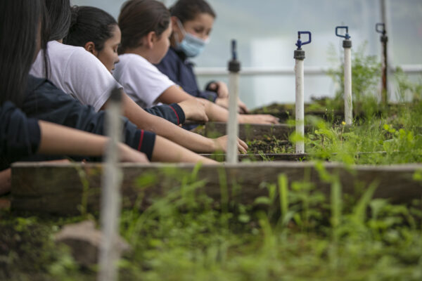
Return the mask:
POLYGON ((229 122, 227 122, 227 143, 226 162, 236 164, 238 162, 237 140, 239 134, 238 125, 238 96, 239 96, 239 74, 229 73, 229 122))

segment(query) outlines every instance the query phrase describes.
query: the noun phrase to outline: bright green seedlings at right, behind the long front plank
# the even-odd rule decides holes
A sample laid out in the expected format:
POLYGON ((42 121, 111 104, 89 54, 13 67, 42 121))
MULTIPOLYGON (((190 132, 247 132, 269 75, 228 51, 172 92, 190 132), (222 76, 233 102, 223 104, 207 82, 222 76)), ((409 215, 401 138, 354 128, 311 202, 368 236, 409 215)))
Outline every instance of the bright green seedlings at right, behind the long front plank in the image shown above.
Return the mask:
POLYGON ((396 107, 358 120, 351 127, 332 126, 314 119, 314 131, 305 138, 310 159, 346 164, 403 164, 422 162, 422 103, 396 107), (371 153, 378 152, 378 153, 371 153))

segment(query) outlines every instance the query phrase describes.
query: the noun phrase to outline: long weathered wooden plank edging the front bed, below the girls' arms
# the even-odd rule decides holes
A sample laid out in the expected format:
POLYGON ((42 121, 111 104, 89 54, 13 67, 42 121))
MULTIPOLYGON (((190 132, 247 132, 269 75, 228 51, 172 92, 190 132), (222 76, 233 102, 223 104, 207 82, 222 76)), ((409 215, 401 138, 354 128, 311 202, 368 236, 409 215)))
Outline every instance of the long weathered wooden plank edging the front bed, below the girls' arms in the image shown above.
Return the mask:
MULTIPOLYGON (((198 171, 198 180, 205 180, 205 192, 220 199, 220 181, 226 183, 230 200, 252 204, 257 197, 266 196, 267 190, 260 188, 262 182, 277 183, 279 174, 286 174, 288 181, 307 181, 329 194, 328 183, 321 180, 312 162, 255 162, 238 165, 208 165, 198 171), (240 188, 240 189, 239 189, 240 188), (237 191, 236 191, 237 190, 237 191)), ((414 181, 421 164, 397 166, 352 166, 325 163, 326 171, 338 174, 343 192, 354 194, 359 187, 364 189, 378 181, 375 197, 388 198, 392 202, 408 203, 422 196, 422 183, 414 181)), ((180 185, 182 178, 190 178, 194 166, 191 164, 122 164, 124 181, 122 192, 124 207, 133 207, 142 196, 141 209, 147 207, 155 197, 162 197, 170 189, 180 185), (140 176, 148 176, 148 186, 136 184, 140 176)), ((33 164, 13 165, 12 204, 18 211, 70 215, 78 214, 83 197, 87 207, 98 211, 99 188, 101 186, 101 164, 33 164), (84 192, 80 174, 87 183, 84 192)))

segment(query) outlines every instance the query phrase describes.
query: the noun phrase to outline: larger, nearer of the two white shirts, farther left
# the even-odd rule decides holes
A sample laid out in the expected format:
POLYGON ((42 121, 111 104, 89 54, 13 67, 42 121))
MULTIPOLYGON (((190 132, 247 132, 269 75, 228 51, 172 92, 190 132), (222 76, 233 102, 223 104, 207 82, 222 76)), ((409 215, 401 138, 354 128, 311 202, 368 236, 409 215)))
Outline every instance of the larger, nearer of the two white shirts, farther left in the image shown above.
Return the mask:
POLYGON ((70 94, 83 105, 91 105, 96 111, 106 103, 115 86, 115 81, 95 55, 82 47, 49 41, 47 46, 49 74, 45 75, 44 52, 40 51, 30 74, 48 78, 65 93, 70 94))

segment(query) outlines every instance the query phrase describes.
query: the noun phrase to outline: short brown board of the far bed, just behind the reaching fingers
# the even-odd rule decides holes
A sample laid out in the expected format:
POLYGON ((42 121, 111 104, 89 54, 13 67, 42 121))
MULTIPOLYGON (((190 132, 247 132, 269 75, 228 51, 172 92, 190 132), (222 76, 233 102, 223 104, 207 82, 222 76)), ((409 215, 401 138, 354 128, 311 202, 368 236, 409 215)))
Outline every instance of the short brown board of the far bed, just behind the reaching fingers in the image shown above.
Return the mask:
MULTIPOLYGON (((312 130, 305 126, 305 132, 312 130)), ((288 136, 295 131, 295 126, 290 124, 239 124, 239 138, 242 140, 262 140, 276 138, 288 140, 288 136)), ((205 136, 215 138, 226 135, 226 123, 208 122, 205 124, 205 136)))

